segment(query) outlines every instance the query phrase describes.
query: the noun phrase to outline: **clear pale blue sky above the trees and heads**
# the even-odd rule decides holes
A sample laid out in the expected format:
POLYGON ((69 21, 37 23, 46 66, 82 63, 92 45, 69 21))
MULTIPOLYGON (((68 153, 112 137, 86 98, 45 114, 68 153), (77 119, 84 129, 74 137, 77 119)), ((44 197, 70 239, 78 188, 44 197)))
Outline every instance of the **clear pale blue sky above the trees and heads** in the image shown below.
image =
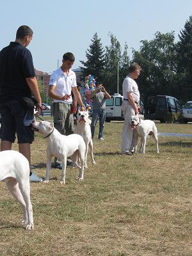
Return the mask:
POLYGON ((0 49, 15 40, 20 25, 28 25, 34 32, 28 49, 35 68, 52 72, 67 51, 76 56, 74 68, 86 61, 95 32, 106 46, 111 31, 122 48, 127 42, 130 56, 131 48, 139 50, 140 41, 151 40, 156 31, 175 31, 177 41, 192 15, 192 0, 0 0, 0 11, 0 49))

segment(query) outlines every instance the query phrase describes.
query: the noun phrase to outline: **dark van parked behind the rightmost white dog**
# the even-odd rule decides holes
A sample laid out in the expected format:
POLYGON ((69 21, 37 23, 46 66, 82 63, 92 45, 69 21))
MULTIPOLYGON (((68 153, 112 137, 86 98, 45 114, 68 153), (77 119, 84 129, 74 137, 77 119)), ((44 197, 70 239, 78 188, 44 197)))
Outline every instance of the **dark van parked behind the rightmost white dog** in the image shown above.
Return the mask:
POLYGON ((145 105, 145 119, 165 122, 166 113, 181 113, 182 107, 177 99, 168 95, 150 96, 145 105))

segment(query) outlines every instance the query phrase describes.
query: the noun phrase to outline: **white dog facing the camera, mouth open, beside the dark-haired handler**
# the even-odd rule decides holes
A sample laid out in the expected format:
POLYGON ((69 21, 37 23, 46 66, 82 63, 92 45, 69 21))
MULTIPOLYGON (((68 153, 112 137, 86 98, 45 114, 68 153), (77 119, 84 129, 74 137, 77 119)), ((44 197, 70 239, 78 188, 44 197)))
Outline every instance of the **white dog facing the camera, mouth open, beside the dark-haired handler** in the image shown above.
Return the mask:
POLYGON ((92 141, 92 132, 91 132, 91 120, 88 118, 88 111, 79 111, 77 113, 77 134, 80 134, 83 137, 83 140, 86 145, 85 157, 84 157, 84 168, 87 168, 87 154, 88 148, 90 148, 90 154, 92 158, 92 164, 95 164, 93 157, 93 141, 92 141))

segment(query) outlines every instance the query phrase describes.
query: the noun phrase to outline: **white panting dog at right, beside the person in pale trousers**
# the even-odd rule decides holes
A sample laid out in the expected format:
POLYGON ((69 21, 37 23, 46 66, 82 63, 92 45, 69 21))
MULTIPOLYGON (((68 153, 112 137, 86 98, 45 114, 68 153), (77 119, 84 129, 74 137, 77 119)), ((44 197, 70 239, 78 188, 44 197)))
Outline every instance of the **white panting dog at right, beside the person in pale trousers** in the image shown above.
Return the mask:
MULTIPOLYGON (((142 120, 138 115, 131 117, 131 129, 137 131, 138 136, 141 137, 141 147, 140 152, 145 154, 145 145, 147 140, 147 135, 152 135, 156 141, 156 152, 159 153, 158 147, 158 135, 157 127, 155 123, 151 120, 142 120)), ((136 145, 138 142, 138 137, 136 139, 136 145)), ((134 147, 134 153, 136 153, 136 147, 134 147)))

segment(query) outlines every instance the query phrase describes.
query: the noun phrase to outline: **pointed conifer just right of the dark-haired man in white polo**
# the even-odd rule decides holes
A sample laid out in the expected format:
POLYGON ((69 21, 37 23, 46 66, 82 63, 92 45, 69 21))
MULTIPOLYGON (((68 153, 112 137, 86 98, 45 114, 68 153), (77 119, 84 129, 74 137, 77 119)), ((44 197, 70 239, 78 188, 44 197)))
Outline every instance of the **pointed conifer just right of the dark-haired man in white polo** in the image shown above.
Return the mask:
POLYGON ((97 33, 93 35, 92 44, 86 51, 87 61, 80 61, 83 67, 79 67, 83 70, 83 76, 92 74, 97 77, 97 80, 102 80, 104 70, 104 49, 100 42, 100 38, 97 33))

